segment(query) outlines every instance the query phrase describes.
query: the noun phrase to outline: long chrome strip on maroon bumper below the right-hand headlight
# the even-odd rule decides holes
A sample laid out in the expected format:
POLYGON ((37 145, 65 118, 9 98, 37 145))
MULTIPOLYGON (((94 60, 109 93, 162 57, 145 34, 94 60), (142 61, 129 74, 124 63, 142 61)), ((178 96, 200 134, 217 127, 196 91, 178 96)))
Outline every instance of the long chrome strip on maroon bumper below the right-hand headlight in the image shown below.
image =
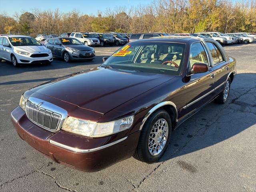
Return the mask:
POLYGON ((122 138, 122 139, 119 139, 117 141, 114 141, 112 143, 109 143, 109 144, 106 144, 106 145, 103 145, 103 146, 100 146, 100 147, 92 148, 92 149, 78 149, 78 148, 74 148, 74 147, 70 147, 70 146, 61 144, 61 143, 53 141, 53 140, 49 140, 49 143, 52 144, 52 145, 55 145, 55 146, 58 146, 58 147, 61 147, 61 148, 64 148, 64 149, 76 152, 76 153, 90 153, 90 152, 95 152, 95 151, 102 150, 104 148, 113 146, 115 144, 118 144, 118 143, 126 140, 126 138, 127 138, 127 136, 122 138))

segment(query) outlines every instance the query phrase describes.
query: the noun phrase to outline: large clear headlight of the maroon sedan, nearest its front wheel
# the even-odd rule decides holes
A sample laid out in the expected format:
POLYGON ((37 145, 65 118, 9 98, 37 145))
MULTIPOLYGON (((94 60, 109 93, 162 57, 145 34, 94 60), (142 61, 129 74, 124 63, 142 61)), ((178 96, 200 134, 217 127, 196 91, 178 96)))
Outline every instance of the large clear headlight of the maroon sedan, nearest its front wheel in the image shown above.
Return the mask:
POLYGON ((103 137, 130 128, 133 120, 133 115, 107 123, 97 123, 68 117, 63 123, 62 130, 88 137, 103 137))

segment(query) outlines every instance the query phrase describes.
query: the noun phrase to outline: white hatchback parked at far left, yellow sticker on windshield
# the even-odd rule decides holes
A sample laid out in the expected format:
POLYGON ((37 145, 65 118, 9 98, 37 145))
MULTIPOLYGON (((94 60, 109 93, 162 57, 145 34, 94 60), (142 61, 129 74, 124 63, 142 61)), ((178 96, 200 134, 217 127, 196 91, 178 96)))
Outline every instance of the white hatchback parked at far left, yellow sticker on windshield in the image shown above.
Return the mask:
POLYGON ((0 60, 20 64, 51 64, 52 52, 30 36, 6 35, 0 37, 0 60))

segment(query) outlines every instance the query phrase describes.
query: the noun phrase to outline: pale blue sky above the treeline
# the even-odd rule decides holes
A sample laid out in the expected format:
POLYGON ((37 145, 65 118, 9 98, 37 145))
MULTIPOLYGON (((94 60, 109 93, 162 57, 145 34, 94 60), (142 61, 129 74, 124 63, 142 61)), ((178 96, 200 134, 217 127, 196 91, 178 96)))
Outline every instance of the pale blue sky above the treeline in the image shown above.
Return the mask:
POLYGON ((114 10, 119 6, 131 7, 140 4, 149 4, 153 0, 0 0, 0 13, 12 16, 22 11, 30 11, 34 8, 39 10, 55 10, 70 12, 74 9, 83 14, 97 14, 100 10, 104 13, 106 8, 114 10))

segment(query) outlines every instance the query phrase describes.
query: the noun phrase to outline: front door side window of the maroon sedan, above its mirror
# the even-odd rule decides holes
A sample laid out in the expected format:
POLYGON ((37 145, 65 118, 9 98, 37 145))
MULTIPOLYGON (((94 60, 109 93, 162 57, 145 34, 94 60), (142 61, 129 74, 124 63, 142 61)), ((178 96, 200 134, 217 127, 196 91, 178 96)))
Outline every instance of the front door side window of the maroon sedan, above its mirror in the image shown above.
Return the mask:
POLYGON ((192 44, 190 49, 189 63, 190 63, 190 67, 192 67, 194 63, 208 64, 206 52, 200 42, 192 44))

